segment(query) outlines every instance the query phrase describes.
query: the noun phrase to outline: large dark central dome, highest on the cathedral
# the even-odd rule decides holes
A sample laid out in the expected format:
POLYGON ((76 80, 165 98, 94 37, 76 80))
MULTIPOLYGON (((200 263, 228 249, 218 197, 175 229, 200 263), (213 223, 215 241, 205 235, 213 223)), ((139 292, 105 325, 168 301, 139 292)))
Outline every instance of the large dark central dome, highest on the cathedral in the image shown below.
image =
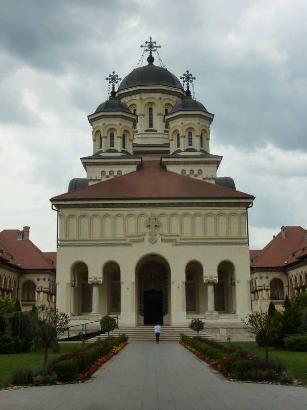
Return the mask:
POLYGON ((126 75, 120 83, 118 91, 142 85, 167 85, 183 91, 180 81, 174 74, 166 68, 154 65, 152 62, 143 67, 135 68, 130 74, 126 75))

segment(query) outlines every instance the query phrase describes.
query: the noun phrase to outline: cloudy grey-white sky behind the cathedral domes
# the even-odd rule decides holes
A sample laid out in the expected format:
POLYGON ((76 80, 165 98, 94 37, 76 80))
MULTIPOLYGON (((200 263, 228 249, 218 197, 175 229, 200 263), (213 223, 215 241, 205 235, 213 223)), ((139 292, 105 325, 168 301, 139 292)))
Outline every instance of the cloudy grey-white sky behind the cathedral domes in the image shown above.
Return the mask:
POLYGON ((256 196, 251 248, 282 225, 307 228, 306 19, 305 0, 2 0, 0 231, 30 226, 55 251, 49 199, 85 177, 87 115, 107 98, 105 77, 132 71, 150 36, 169 71, 193 73, 215 115, 218 176, 256 196))

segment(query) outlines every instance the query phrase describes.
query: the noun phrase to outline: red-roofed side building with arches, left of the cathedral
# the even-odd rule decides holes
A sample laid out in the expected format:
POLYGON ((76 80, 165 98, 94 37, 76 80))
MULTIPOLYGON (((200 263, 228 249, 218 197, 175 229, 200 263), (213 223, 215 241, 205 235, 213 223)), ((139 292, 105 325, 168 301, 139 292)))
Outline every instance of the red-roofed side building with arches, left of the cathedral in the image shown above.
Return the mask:
POLYGON ((30 240, 30 227, 0 232, 0 294, 18 298, 22 310, 55 306, 56 252, 43 253, 30 240))

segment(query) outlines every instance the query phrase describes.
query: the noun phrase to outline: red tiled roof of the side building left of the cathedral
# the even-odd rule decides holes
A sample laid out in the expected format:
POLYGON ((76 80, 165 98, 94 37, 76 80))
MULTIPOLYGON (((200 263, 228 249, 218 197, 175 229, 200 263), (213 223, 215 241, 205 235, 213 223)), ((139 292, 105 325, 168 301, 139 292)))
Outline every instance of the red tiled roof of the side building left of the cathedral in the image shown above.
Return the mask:
POLYGON ((0 249, 7 263, 23 269, 55 269, 55 258, 50 259, 29 239, 17 240, 17 233, 22 231, 4 229, 0 232, 0 249))

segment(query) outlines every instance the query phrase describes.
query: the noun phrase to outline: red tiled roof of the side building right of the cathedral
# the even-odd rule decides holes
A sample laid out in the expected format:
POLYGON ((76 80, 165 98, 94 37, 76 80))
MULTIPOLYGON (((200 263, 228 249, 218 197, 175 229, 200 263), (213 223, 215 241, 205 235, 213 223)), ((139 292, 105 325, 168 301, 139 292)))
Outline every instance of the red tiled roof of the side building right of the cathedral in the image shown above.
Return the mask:
POLYGON ((250 251, 252 268, 278 268, 298 262, 307 254, 307 239, 302 227, 285 227, 285 237, 281 232, 260 251, 250 251), (256 253, 257 252, 257 253, 256 253))

